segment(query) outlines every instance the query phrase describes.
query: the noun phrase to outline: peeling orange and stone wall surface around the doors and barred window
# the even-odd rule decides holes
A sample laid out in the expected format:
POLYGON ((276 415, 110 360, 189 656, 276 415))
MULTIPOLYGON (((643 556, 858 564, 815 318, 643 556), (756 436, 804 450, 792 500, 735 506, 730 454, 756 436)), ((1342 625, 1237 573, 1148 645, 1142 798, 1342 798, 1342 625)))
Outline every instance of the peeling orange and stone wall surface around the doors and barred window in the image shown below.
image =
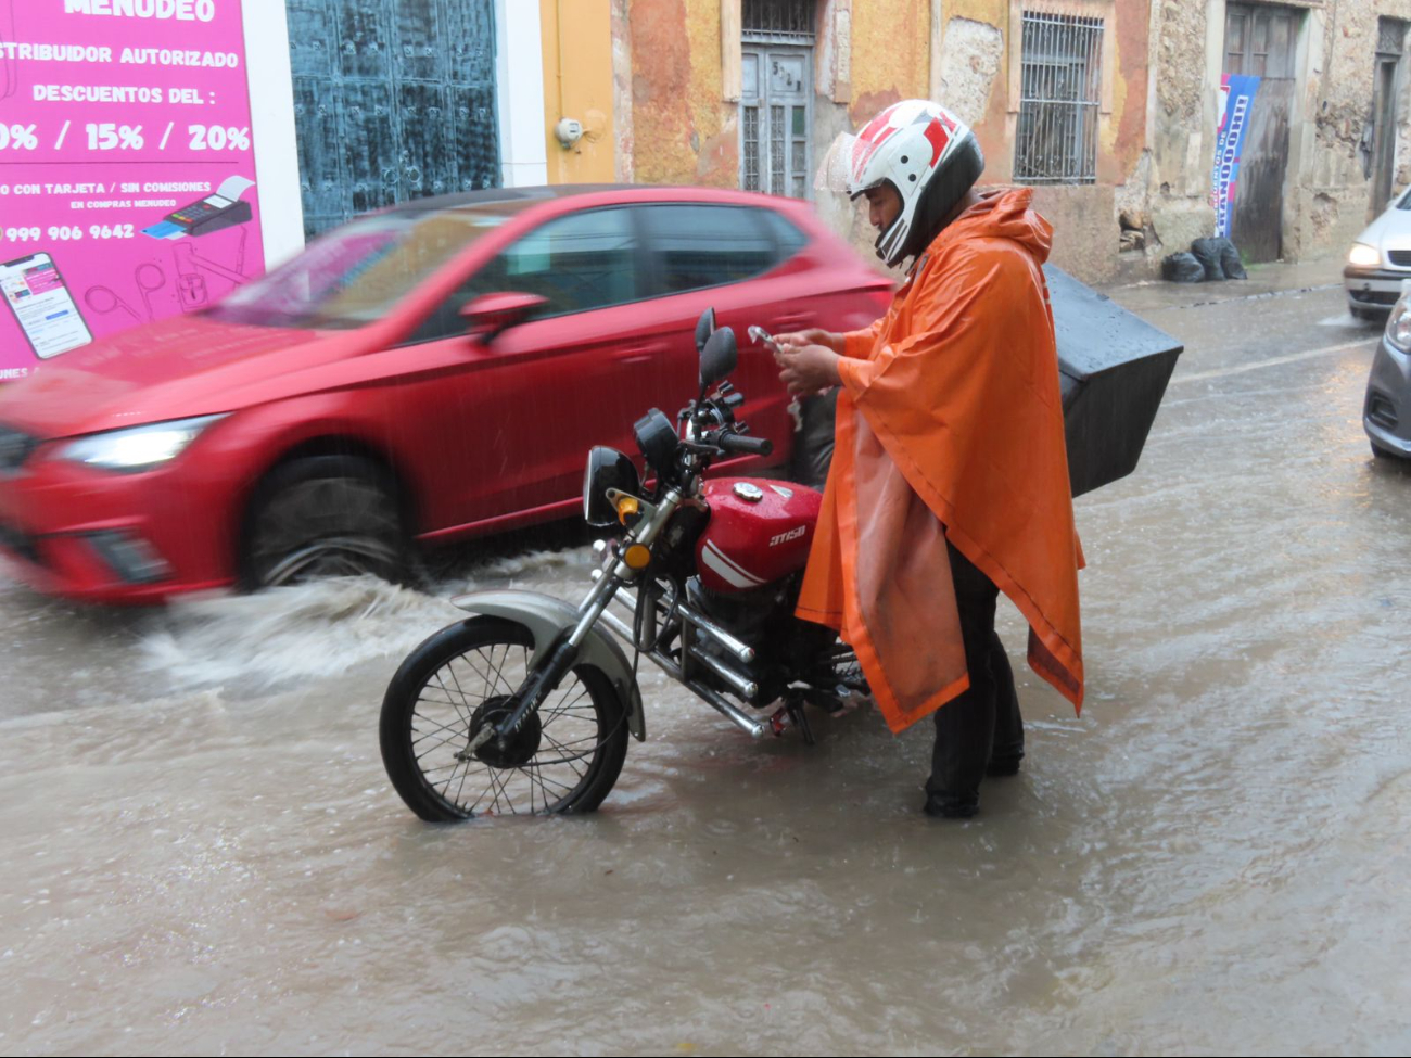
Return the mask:
MULTIPOLYGON (((1085 0, 1034 0, 1078 11, 1085 0)), ((728 3, 728 0, 727 0, 728 3)), ((1340 254, 1367 220, 1359 142, 1370 120, 1377 17, 1411 21, 1411 0, 1285 0, 1302 7, 1283 245, 1340 254)), ((612 0, 617 175, 645 183, 737 186, 738 106, 722 93, 722 0, 612 0)), ((931 95, 971 123, 985 182, 1013 172, 1015 0, 818 0, 813 154, 889 103, 931 95), (941 21, 933 25, 933 14, 941 21), (935 37, 937 39, 933 39, 935 37), (933 56, 937 69, 931 69, 933 56)), ((1226 0, 1118 0, 1098 182, 1046 188, 1055 260, 1088 281, 1154 272, 1211 234, 1211 169, 1226 0), (1119 254, 1119 248, 1126 253, 1119 254)), ((1398 116, 1397 186, 1411 182, 1411 56, 1398 116)), ((818 212, 871 257, 856 206, 816 190, 818 212)))

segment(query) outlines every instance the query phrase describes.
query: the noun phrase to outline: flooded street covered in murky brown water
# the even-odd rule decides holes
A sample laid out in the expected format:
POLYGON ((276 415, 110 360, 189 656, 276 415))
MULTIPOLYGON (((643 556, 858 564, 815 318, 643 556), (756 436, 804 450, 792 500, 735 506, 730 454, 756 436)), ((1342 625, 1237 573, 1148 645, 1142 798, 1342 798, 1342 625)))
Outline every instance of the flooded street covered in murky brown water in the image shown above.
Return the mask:
POLYGON ((377 743, 401 656, 467 583, 576 598, 587 547, 165 611, 0 574, 0 1052, 1404 1052, 1376 332, 1340 288, 1178 295, 1118 295, 1188 351, 1075 505, 1088 704, 1002 604, 1029 756, 968 822, 920 811, 928 724, 753 743, 645 663, 600 813, 418 821, 377 743))

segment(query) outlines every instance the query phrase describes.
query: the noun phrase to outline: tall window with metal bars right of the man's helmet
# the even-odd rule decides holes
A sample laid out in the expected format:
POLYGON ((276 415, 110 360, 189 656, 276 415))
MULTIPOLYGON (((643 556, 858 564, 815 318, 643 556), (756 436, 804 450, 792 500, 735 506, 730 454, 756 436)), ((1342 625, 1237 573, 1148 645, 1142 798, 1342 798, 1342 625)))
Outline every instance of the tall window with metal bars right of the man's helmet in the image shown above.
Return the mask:
POLYGON ((1023 13, 1015 181, 1094 183, 1102 106, 1102 20, 1023 13))

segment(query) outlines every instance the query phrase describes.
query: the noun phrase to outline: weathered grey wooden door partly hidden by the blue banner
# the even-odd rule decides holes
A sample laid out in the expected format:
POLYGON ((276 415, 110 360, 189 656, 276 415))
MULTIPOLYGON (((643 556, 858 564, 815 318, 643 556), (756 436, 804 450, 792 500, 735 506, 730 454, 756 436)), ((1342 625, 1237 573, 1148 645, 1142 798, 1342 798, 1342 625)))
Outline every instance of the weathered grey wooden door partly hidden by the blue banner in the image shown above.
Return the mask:
POLYGON ((1232 3, 1225 14, 1225 72, 1260 79, 1240 154, 1230 238, 1250 261, 1283 254, 1284 176, 1294 109, 1301 11, 1232 3))

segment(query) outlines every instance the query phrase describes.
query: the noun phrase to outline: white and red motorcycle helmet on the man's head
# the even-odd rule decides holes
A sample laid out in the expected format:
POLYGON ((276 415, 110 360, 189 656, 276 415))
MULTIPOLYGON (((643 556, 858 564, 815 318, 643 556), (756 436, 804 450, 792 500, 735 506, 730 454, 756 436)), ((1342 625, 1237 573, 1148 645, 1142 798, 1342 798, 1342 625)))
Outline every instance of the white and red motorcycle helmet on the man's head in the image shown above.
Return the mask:
POLYGON ((985 168, 975 134, 945 107, 903 99, 868 121, 848 155, 848 195, 890 183, 902 212, 878 236, 888 265, 921 253, 985 168))

